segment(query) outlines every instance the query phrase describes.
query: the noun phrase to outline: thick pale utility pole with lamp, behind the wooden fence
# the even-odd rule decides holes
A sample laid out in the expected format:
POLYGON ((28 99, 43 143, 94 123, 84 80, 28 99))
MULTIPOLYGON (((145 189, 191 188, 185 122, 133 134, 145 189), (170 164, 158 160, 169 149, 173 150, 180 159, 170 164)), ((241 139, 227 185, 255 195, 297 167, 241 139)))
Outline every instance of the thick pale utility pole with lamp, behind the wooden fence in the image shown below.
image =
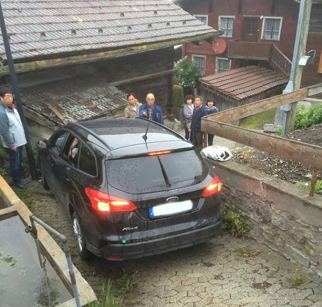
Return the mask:
MULTIPOLYGON (((299 61, 301 56, 305 55, 306 52, 312 1, 313 0, 301 0, 294 43, 290 81, 283 91, 283 94, 299 90, 301 86, 303 66, 299 65, 299 61)), ((280 107, 282 116, 282 135, 287 134, 294 129, 296 106, 297 102, 293 102, 287 103, 280 107)))

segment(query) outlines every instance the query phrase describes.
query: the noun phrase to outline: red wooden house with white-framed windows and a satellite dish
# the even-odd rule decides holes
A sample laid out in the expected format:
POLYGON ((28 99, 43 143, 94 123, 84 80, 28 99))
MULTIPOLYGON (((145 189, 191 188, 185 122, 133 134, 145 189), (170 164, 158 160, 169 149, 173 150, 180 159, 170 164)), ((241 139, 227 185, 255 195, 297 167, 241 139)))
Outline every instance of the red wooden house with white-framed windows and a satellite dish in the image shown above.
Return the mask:
MULTIPOLYGON (((222 31, 212 44, 185 44, 182 55, 206 76, 257 65, 289 75, 300 0, 175 0, 205 24, 222 31)), ((322 82, 322 0, 313 0, 301 87, 322 82)))

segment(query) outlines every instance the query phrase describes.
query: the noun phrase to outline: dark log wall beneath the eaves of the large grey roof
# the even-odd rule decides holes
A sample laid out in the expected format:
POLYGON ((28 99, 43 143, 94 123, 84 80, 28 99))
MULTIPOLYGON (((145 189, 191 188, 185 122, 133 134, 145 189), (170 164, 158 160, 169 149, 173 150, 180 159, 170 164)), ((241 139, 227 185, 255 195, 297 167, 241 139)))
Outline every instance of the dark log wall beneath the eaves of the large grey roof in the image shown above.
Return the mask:
MULTIPOLYGON (((42 69, 20 74, 18 79, 21 88, 80 76, 87 76, 90 79, 103 78, 107 83, 111 83, 172 69, 173 56, 173 47, 170 47, 95 62, 42 69)), ((161 106, 164 113, 172 106, 172 75, 129 83, 119 88, 126 93, 135 93, 140 102, 145 102, 148 93, 154 93, 156 103, 161 106)))

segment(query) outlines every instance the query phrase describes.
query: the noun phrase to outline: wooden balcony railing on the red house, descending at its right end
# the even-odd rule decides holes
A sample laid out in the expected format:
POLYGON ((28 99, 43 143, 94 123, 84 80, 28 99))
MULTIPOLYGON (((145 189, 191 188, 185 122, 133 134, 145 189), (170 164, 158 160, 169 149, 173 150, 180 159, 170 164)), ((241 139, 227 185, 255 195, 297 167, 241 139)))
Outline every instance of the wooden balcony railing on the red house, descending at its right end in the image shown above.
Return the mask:
POLYGON ((241 42, 228 43, 228 57, 248 60, 267 61, 275 70, 289 75, 292 62, 272 43, 241 42))

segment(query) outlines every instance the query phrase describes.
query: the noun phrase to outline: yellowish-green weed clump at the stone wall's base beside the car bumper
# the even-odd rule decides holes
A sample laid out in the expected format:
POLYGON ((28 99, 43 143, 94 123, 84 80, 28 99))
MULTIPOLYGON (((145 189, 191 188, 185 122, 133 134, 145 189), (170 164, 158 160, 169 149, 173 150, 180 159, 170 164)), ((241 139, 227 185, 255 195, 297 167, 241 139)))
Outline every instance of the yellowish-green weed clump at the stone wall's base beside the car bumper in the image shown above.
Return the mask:
POLYGON ((237 238, 248 237, 249 227, 244 221, 245 212, 237 209, 235 206, 228 208, 222 207, 222 230, 227 230, 237 238))

